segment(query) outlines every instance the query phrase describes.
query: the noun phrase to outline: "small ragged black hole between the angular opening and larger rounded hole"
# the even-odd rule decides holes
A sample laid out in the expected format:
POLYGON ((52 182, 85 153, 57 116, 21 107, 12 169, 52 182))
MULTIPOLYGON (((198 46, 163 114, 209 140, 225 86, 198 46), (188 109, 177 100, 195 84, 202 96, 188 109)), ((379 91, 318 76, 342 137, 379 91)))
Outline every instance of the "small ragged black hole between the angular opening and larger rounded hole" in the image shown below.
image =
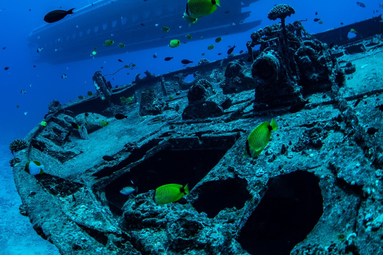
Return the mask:
POLYGON ((198 213, 205 212, 208 218, 214 218, 225 208, 241 209, 251 198, 246 187, 247 181, 238 177, 206 182, 200 187, 198 199, 193 203, 193 207, 198 213))

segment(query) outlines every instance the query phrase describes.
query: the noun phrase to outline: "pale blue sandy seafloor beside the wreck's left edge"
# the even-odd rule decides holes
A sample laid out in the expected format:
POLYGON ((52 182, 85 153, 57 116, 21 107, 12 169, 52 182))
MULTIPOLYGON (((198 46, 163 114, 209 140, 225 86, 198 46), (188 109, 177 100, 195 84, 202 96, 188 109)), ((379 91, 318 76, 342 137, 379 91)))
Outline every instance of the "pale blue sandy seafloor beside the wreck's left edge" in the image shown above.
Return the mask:
MULTIPOLYGON (((23 138, 23 137, 20 137, 23 138)), ((0 144, 0 254, 59 255, 57 248, 33 230, 29 218, 18 210, 21 199, 13 182, 9 144, 0 144)))

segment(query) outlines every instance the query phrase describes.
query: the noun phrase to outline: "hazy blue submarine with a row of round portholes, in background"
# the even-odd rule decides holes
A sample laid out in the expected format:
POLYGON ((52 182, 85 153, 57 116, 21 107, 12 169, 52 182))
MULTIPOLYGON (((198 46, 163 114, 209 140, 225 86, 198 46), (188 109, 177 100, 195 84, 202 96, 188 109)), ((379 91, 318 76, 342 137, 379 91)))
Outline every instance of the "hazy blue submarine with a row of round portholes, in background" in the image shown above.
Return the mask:
POLYGON ((262 20, 244 22, 251 11, 243 11, 258 0, 231 0, 229 6, 218 7, 214 15, 206 15, 194 24, 184 20, 187 1, 173 0, 98 0, 73 14, 32 30, 28 46, 36 63, 60 64, 85 60, 97 53, 104 56, 120 54, 117 44, 125 45, 124 51, 138 51, 166 46, 175 38, 183 39, 188 33, 192 39, 217 37, 248 31, 262 20), (163 26, 170 28, 168 32, 163 26), (103 46, 113 40, 113 47, 103 46), (43 48, 41 53, 36 49, 43 48), (50 54, 54 53, 54 54, 50 54))

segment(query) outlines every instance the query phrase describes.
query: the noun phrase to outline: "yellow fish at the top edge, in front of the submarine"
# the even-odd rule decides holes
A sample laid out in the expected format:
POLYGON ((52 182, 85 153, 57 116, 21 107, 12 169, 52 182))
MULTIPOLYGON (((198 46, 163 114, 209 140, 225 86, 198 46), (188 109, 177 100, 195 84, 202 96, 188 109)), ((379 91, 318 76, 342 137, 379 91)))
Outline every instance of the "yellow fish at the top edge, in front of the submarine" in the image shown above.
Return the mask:
POLYGON ((219 0, 188 0, 184 19, 191 22, 191 19, 208 15, 217 9, 217 5, 220 6, 219 0))

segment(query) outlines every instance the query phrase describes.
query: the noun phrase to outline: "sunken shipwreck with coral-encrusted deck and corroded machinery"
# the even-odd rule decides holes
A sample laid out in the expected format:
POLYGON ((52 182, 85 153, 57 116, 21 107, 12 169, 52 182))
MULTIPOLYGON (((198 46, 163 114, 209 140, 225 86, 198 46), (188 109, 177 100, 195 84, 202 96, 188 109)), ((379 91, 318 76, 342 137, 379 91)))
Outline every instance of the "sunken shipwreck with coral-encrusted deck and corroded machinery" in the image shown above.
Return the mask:
POLYGON ((300 21, 286 29, 287 40, 280 25, 254 32, 250 62, 201 60, 118 88, 97 72, 97 94, 52 102, 12 159, 20 211, 63 255, 382 254, 383 90, 359 68, 383 56, 382 41, 337 59, 300 21), (248 134, 271 118, 265 150, 244 158, 248 134), (45 172, 26 173, 28 160, 45 172), (138 194, 122 195, 132 182, 138 194), (168 183, 191 192, 151 202, 168 183))

